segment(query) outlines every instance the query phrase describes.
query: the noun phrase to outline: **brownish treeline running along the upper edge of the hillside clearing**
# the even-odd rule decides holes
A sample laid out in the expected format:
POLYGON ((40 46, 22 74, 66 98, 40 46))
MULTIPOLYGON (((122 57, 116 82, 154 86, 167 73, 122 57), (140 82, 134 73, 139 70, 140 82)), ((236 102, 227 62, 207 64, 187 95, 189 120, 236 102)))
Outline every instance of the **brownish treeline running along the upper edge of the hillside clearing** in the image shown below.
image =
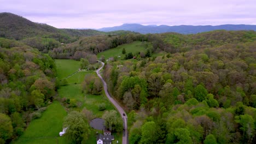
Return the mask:
POLYGON ((84 37, 71 44, 62 45, 49 52, 49 55, 54 58, 58 57, 75 57, 80 59, 82 53, 97 54, 108 49, 112 49, 121 44, 132 43, 133 41, 144 41, 142 34, 121 34, 121 35, 97 35, 94 37, 84 37))

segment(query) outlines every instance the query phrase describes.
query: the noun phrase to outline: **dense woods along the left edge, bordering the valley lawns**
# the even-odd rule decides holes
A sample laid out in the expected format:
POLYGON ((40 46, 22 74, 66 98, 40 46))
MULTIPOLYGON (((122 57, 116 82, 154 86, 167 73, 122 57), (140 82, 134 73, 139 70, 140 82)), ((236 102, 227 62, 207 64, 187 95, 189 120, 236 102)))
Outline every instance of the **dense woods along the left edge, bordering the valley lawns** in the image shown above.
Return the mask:
POLYGON ((0 143, 20 136, 55 95, 53 59, 29 46, 7 48, 0 48, 0 143))

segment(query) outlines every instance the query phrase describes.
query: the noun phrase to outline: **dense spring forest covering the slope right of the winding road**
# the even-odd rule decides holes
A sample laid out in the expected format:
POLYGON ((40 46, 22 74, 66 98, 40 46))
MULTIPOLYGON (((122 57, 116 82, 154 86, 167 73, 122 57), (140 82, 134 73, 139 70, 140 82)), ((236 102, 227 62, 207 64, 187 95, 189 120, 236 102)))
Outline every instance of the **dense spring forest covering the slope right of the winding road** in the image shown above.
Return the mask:
POLYGON ((254 35, 179 35, 195 38, 184 42, 173 34, 153 35, 160 41, 171 37, 157 49, 152 42, 153 51, 168 53, 107 64, 109 92, 131 110, 130 143, 255 143, 254 35))

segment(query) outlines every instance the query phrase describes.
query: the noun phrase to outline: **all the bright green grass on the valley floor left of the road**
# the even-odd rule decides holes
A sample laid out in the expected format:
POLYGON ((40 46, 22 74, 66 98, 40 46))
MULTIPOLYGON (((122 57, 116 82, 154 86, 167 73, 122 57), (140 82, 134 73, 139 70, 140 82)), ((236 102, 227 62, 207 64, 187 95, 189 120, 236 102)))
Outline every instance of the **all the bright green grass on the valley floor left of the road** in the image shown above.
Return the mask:
MULTIPOLYGON (((66 59, 55 59, 57 66, 57 77, 63 79, 68 75, 73 74, 79 69, 79 62, 66 59)), ((104 111, 98 110, 98 105, 101 103, 106 104, 106 110, 114 110, 114 106, 109 103, 106 96, 85 94, 81 91, 80 83, 84 80, 86 73, 94 73, 92 71, 80 71, 67 78, 68 85, 61 86, 58 89, 59 97, 76 99, 82 102, 82 106, 76 110, 82 110, 83 107, 91 110, 96 117, 102 117, 104 111), (77 84, 74 84, 77 83, 77 84)), ((67 115, 64 107, 59 101, 54 101, 53 104, 48 106, 48 109, 43 112, 42 117, 34 119, 28 125, 25 133, 13 143, 70 143, 65 136, 60 137, 59 132, 62 131, 63 118, 67 115)), ((96 143, 95 137, 96 130, 91 130, 91 135, 88 138, 88 143, 96 143)), ((116 143, 117 140, 121 143, 122 134, 114 134, 116 143)))

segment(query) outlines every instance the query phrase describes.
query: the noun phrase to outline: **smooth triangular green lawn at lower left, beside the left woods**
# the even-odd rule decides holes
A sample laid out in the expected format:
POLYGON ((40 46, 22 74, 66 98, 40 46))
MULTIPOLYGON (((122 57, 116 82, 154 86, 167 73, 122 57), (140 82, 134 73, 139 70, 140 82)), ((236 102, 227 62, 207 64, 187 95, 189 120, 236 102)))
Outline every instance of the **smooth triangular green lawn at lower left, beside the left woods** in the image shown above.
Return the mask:
POLYGON ((42 117, 34 119, 28 125, 26 131, 13 143, 61 143, 65 141, 60 137, 63 118, 67 115, 59 101, 54 101, 48 109, 42 113, 42 117))

